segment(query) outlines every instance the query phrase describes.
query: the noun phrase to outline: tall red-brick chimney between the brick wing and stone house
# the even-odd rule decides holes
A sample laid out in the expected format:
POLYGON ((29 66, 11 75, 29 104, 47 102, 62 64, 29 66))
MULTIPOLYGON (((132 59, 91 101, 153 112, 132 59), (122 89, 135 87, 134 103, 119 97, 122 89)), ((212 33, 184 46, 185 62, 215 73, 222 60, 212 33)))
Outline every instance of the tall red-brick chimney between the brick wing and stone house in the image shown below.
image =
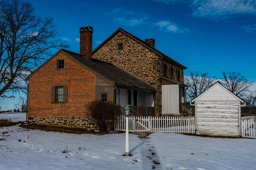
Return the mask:
POLYGON ((81 27, 80 29, 80 54, 88 58, 93 57, 93 28, 81 27))

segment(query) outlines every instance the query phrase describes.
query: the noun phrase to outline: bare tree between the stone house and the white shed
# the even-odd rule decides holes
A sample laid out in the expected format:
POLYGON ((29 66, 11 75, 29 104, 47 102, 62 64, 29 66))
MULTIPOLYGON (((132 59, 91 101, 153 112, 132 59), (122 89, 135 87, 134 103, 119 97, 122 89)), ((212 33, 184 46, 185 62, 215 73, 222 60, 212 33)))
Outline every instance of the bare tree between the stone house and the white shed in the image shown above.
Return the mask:
POLYGON ((190 76, 184 79, 184 83, 188 85, 186 90, 187 98, 192 100, 202 94, 210 86, 216 82, 215 77, 209 77, 208 73, 190 72, 190 76))

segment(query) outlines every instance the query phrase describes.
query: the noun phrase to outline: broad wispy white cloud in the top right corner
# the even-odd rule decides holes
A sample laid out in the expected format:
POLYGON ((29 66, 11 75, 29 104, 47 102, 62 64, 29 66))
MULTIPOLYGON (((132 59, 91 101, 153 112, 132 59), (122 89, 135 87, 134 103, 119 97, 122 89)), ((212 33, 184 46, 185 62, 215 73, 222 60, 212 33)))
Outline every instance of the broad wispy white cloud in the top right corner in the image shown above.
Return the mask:
POLYGON ((193 16, 224 19, 237 15, 255 15, 256 0, 154 0, 166 4, 188 3, 193 16))

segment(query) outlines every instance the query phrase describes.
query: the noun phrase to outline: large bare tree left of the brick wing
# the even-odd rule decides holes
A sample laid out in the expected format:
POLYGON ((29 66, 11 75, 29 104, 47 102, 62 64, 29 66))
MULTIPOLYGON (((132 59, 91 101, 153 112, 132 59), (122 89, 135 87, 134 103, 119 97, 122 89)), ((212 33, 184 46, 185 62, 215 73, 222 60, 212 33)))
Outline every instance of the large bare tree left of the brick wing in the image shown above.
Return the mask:
POLYGON ((53 19, 35 16, 30 3, 0 1, 0 97, 26 92, 24 79, 51 56, 52 48, 67 48, 57 39, 53 19), (10 95, 7 95, 7 92, 10 95))

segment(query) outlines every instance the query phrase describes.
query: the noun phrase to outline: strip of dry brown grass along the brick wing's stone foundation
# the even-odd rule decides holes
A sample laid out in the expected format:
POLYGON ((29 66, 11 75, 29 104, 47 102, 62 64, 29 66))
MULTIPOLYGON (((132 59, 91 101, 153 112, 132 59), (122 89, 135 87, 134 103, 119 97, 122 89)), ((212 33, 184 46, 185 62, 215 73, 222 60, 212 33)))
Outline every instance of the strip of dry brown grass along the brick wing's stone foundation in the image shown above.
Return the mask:
POLYGON ((32 130, 46 130, 53 132, 61 132, 61 133, 75 133, 75 134, 94 134, 94 135, 105 135, 107 132, 97 132, 89 129, 75 128, 75 127, 60 127, 60 126, 49 126, 49 125, 38 125, 38 124, 28 124, 28 125, 20 125, 20 127, 24 127, 32 130))

